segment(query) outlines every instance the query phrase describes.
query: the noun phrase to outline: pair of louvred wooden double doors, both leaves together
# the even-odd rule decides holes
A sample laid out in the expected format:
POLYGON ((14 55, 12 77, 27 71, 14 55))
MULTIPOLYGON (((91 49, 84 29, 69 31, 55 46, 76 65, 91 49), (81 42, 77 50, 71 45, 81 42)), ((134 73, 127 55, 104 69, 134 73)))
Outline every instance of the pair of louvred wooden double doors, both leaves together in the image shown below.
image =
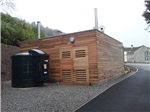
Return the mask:
POLYGON ((60 48, 60 84, 89 85, 88 47, 60 48))

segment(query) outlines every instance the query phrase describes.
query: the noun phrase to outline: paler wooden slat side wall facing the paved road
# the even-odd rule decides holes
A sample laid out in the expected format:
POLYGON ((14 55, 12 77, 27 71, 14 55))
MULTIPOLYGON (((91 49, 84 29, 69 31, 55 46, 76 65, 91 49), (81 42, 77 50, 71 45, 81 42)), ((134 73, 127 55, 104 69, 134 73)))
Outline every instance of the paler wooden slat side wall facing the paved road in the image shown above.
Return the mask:
POLYGON ((123 45, 121 42, 96 31, 98 78, 106 80, 124 73, 123 45))

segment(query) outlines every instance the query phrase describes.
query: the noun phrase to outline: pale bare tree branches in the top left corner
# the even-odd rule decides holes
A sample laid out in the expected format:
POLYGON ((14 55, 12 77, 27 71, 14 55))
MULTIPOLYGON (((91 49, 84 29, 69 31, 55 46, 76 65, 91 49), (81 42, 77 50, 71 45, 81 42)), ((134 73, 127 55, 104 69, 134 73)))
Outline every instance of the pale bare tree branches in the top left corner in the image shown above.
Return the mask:
POLYGON ((0 0, 0 9, 4 12, 12 12, 15 9, 15 0, 0 0))

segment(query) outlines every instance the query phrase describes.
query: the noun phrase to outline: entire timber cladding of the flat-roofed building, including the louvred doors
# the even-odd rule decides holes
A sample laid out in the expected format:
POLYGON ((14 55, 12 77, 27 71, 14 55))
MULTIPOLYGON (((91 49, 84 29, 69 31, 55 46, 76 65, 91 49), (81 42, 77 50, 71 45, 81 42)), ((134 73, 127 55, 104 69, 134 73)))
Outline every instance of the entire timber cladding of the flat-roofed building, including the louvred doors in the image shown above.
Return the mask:
POLYGON ((50 80, 61 84, 90 85, 124 73, 122 43, 95 29, 20 44, 20 52, 30 49, 50 55, 50 80))

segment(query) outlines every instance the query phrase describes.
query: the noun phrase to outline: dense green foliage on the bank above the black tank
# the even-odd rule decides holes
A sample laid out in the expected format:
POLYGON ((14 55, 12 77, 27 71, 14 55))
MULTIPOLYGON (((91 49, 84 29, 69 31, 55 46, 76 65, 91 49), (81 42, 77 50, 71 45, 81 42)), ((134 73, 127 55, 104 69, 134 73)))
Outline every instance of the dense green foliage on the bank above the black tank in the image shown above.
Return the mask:
MULTIPOLYGON (((20 46, 21 41, 37 38, 37 30, 27 23, 8 14, 0 13, 0 43, 20 46)), ((41 31, 41 37, 45 37, 41 31)))

